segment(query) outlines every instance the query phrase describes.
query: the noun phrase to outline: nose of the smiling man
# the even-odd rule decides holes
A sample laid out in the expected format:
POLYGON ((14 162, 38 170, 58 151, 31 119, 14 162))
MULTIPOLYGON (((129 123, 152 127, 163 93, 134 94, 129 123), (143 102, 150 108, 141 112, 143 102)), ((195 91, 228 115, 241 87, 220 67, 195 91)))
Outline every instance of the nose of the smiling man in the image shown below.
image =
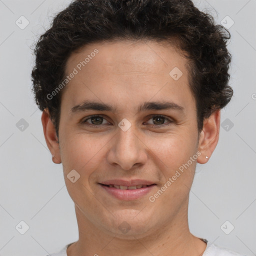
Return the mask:
POLYGON ((131 170, 146 163, 146 148, 141 133, 136 132, 135 124, 126 131, 118 127, 117 134, 110 142, 107 161, 118 169, 131 170))

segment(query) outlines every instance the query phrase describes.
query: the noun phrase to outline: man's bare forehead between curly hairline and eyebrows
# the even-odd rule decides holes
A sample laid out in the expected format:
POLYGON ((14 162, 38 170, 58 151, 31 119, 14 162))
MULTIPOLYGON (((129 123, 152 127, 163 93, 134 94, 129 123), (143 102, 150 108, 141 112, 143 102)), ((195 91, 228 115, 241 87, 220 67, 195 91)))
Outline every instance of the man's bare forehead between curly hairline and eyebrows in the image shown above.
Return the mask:
POLYGON ((68 94, 70 106, 84 97, 110 103, 110 96, 115 102, 131 97, 137 101, 141 96, 148 101, 153 94, 155 100, 171 94, 177 100, 178 94, 191 94, 186 65, 187 60, 174 47, 154 41, 87 44, 67 60, 66 75, 76 74, 63 97, 68 94))

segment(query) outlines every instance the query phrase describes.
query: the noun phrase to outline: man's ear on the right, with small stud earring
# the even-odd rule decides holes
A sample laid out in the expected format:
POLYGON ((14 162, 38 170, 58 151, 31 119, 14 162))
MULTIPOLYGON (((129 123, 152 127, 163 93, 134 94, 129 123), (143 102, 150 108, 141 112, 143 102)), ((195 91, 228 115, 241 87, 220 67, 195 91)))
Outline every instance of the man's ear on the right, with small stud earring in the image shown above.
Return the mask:
POLYGON ((220 110, 216 110, 203 121, 198 142, 198 151, 201 152, 197 158, 198 163, 206 163, 215 149, 219 137, 219 123, 220 110))

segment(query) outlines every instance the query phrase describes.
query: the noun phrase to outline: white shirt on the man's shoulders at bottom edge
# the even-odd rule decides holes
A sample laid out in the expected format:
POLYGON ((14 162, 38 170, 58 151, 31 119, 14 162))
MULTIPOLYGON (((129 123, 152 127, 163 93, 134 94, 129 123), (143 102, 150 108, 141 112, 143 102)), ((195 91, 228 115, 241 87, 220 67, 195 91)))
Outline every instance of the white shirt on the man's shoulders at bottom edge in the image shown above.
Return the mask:
MULTIPOLYGON (((207 246, 202 254, 202 256, 246 256, 245 254, 236 253, 230 249, 219 247, 214 243, 207 241, 206 239, 200 238, 207 243, 207 246)), ((51 253, 51 256, 67 256, 66 249, 72 243, 67 244, 59 252, 51 253)), ((46 255, 49 256, 49 255, 46 255)))

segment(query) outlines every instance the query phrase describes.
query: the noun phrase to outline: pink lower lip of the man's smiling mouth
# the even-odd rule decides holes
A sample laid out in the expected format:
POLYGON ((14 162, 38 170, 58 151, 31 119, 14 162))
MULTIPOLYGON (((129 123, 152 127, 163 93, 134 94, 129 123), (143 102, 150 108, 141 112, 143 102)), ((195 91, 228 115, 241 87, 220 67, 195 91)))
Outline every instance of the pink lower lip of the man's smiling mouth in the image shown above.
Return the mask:
POLYGON ((112 196, 116 197, 117 199, 121 199, 121 200, 135 200, 138 199, 142 196, 144 196, 145 194, 147 194, 154 186, 150 185, 150 186, 146 186, 146 187, 141 187, 141 188, 137 188, 137 189, 118 189, 115 187, 109 187, 109 186, 105 186, 102 184, 99 184, 102 188, 104 188, 109 194, 111 194, 112 196))

